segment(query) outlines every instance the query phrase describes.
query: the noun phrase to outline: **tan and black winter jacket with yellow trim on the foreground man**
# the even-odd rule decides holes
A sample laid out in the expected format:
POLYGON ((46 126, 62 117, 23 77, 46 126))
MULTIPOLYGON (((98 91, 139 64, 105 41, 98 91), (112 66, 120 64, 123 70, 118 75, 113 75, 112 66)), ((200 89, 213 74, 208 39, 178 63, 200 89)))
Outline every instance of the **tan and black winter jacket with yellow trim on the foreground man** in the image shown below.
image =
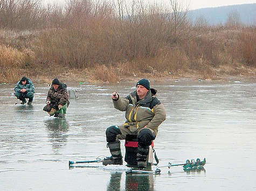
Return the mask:
POLYGON ((125 99, 113 100, 114 107, 126 112, 124 127, 130 131, 139 133, 139 130, 147 126, 158 132, 158 126, 166 119, 166 111, 163 104, 156 98, 156 90, 150 89, 146 96, 137 101, 137 92, 134 91, 125 99))

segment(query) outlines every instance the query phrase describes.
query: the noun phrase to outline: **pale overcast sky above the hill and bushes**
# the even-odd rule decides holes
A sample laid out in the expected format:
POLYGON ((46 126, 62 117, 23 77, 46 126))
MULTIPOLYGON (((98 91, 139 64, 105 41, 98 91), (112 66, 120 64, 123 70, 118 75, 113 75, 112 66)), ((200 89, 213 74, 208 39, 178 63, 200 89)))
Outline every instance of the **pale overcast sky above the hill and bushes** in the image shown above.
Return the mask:
MULTIPOLYGON (((44 3, 47 2, 57 2, 57 3, 65 3, 68 0, 41 0, 44 3)), ((107 0, 112 1, 112 0, 107 0)), ((154 0, 144 0, 145 2, 154 2, 154 0)), ((155 0, 155 2, 168 3, 168 0, 155 0)), ((225 5, 236 5, 236 4, 245 4, 245 3, 256 3, 256 0, 178 0, 183 2, 185 5, 189 5, 189 9, 200 9, 200 8, 211 8, 217 6, 225 6, 225 5), (187 3, 186 3, 187 2, 187 3)))

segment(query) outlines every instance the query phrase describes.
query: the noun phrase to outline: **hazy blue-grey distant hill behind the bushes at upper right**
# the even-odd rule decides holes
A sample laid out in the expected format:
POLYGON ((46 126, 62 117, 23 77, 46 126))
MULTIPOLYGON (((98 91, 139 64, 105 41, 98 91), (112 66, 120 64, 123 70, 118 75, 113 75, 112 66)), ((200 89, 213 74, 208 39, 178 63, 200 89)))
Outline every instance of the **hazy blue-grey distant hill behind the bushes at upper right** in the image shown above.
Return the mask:
POLYGON ((256 22, 256 3, 219 6, 217 8, 203 8, 189 10, 192 19, 195 21, 198 17, 204 17, 210 25, 225 24, 231 11, 236 10, 240 14, 242 23, 246 25, 255 25, 256 22))

